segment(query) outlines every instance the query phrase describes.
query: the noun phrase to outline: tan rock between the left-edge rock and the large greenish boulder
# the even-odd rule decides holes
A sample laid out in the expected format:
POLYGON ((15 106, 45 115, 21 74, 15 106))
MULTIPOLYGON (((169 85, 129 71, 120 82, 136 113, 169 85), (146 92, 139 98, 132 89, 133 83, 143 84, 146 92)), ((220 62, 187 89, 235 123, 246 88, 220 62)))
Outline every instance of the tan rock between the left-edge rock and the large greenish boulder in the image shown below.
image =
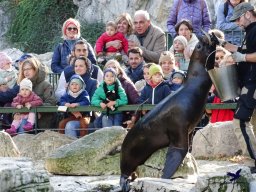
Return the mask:
POLYGON ((20 134, 13 137, 22 157, 43 160, 57 148, 72 143, 75 138, 54 131, 44 131, 37 135, 20 134))

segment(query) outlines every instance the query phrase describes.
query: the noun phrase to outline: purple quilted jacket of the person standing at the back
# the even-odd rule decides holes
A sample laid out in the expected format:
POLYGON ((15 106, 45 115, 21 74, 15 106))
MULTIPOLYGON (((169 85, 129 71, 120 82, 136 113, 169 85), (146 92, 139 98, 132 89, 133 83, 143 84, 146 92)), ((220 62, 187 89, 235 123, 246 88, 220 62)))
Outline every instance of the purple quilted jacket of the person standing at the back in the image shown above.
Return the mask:
POLYGON ((167 19, 167 29, 172 37, 176 35, 175 25, 182 19, 190 20, 197 36, 201 29, 208 32, 211 27, 209 10, 205 0, 174 0, 167 19))

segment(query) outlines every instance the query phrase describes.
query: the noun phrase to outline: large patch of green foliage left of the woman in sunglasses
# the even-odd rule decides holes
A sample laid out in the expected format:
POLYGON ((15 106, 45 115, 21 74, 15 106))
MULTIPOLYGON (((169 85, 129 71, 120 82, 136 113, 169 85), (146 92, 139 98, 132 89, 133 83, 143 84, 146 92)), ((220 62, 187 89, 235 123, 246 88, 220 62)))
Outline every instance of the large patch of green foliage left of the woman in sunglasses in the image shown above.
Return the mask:
POLYGON ((62 24, 77 7, 72 0, 19 0, 15 12, 9 40, 24 52, 45 53, 61 41, 62 24))

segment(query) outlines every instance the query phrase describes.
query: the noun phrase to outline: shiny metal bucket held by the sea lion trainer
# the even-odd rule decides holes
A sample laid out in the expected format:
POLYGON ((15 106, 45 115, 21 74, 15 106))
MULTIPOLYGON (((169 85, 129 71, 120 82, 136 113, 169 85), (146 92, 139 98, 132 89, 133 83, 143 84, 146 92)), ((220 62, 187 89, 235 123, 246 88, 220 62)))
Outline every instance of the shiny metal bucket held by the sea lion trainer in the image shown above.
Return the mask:
POLYGON ((235 99, 240 94, 237 65, 226 65, 208 71, 221 101, 235 99))

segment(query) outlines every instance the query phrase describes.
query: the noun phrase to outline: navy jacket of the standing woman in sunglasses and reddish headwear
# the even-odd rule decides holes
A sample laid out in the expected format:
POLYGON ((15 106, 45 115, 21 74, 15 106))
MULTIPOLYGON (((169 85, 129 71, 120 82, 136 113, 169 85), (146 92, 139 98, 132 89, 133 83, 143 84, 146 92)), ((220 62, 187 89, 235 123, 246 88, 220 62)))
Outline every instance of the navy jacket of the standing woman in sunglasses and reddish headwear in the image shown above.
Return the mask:
MULTIPOLYGON (((88 59, 92 63, 96 63, 96 57, 93 51, 92 46, 90 43, 87 42, 88 46, 88 59)), ((69 44, 66 40, 64 40, 63 43, 59 43, 52 56, 52 63, 51 63, 51 69, 54 73, 61 73, 66 66, 69 65, 68 63, 68 56, 70 55, 73 47, 69 47, 69 44)))

